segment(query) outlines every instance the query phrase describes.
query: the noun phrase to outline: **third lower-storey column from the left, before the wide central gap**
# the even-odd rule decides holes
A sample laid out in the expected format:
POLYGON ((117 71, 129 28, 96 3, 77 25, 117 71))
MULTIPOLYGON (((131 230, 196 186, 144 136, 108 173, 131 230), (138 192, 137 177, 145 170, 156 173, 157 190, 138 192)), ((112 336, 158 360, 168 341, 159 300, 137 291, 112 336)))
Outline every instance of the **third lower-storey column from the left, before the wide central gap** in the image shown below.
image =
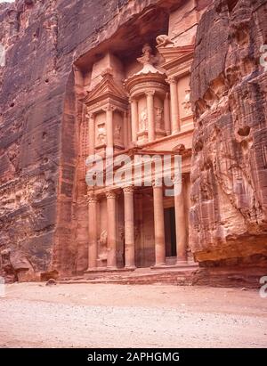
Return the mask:
POLYGON ((125 268, 135 268, 134 187, 125 187, 125 268))

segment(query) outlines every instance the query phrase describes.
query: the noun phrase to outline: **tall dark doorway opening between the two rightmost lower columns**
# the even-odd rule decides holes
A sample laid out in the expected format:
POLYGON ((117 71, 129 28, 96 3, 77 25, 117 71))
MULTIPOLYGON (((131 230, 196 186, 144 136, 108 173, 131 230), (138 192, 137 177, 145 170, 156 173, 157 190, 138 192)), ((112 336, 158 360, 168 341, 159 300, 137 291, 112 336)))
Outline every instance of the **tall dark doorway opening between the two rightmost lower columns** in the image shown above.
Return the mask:
POLYGON ((166 256, 176 256, 176 232, 174 207, 164 210, 166 256))

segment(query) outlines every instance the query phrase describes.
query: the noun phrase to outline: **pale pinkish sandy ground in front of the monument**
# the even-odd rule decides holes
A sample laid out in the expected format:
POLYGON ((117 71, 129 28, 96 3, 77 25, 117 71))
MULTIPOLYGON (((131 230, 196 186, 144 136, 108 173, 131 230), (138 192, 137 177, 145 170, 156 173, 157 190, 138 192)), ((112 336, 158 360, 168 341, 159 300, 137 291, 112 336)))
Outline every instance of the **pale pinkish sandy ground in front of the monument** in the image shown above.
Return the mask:
POLYGON ((166 285, 12 284, 0 347, 267 347, 258 291, 166 285))

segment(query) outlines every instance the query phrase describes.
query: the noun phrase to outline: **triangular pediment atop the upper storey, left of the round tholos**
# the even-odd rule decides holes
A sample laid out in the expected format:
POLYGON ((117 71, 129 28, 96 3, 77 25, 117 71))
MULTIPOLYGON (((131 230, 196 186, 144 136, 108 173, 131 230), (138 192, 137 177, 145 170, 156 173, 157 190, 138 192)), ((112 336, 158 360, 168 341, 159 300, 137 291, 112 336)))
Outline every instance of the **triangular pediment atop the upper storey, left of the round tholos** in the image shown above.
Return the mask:
POLYGON ((118 98, 125 100, 127 94, 122 86, 117 85, 114 77, 106 73, 101 82, 96 85, 91 92, 85 97, 85 103, 99 102, 107 98, 118 98))

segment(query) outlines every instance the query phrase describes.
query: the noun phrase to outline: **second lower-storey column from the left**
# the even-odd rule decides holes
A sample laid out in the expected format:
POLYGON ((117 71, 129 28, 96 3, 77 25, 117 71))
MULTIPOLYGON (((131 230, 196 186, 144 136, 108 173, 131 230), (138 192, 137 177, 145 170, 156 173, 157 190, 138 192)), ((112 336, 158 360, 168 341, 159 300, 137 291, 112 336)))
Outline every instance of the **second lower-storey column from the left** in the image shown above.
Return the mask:
POLYGON ((107 226, 108 226, 108 259, 107 267, 117 269, 117 226, 116 226, 116 193, 107 191, 107 226))

